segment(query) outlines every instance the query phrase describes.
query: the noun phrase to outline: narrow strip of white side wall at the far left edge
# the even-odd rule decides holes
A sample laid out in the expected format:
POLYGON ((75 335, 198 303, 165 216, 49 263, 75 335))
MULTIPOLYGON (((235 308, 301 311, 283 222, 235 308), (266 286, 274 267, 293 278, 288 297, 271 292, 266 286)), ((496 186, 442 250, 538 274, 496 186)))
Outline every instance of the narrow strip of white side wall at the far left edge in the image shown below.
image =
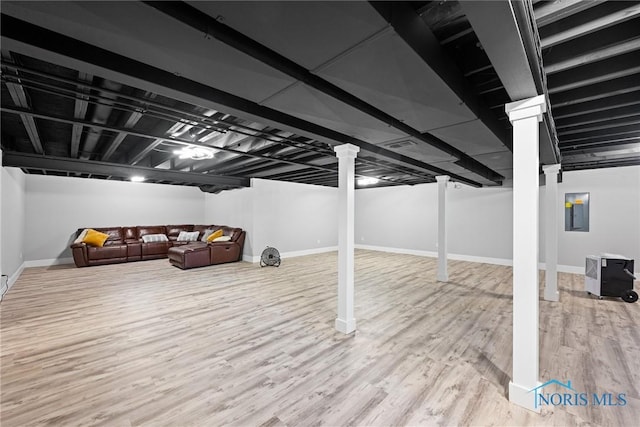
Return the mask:
POLYGON ((25 232, 25 174, 17 168, 2 167, 2 274, 13 285, 23 267, 25 232))

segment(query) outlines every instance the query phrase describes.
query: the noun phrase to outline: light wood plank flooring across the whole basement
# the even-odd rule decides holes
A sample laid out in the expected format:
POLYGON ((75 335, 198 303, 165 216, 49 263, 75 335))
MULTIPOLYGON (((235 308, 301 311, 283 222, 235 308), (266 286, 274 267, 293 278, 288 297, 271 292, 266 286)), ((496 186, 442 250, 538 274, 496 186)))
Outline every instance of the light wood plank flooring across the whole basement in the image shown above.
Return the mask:
POLYGON ((26 269, 0 304, 0 424, 637 425, 640 304, 560 275, 561 302, 540 302, 541 380, 627 405, 535 414, 506 398, 509 267, 452 261, 438 283, 434 259, 358 250, 345 336, 336 264, 26 269))

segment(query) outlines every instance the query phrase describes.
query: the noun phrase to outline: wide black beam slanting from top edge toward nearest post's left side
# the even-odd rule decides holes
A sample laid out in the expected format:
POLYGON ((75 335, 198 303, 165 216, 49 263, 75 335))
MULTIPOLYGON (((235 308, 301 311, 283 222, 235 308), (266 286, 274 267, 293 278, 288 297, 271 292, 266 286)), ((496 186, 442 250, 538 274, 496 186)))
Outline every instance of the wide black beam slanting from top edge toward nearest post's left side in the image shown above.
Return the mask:
MULTIPOLYGON (((424 19, 407 2, 371 1, 369 4, 393 27, 396 34, 425 64, 435 71, 489 131, 510 151, 513 151, 508 130, 500 123, 489 106, 475 93, 471 83, 446 54, 424 19)), ((473 32, 471 29, 469 31, 473 32)))

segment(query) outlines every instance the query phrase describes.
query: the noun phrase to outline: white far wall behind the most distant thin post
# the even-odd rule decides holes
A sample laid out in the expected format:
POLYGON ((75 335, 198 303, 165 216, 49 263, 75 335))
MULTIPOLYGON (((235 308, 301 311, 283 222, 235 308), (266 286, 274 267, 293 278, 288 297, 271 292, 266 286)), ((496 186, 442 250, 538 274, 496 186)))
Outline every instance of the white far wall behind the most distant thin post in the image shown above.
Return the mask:
MULTIPOLYGON (((512 257, 511 188, 447 189, 450 254, 507 263, 512 257)), ((438 240, 437 184, 356 190, 356 244, 434 255, 438 240)))

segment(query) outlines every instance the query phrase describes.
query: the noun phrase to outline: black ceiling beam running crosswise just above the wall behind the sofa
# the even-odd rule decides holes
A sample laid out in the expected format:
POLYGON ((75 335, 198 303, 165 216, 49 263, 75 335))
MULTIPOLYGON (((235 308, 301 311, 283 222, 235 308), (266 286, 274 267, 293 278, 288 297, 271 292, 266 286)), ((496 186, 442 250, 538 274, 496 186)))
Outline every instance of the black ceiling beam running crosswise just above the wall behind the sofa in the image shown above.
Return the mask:
POLYGON ((93 160, 69 159, 65 157, 41 156, 16 152, 2 153, 2 165, 17 168, 54 170, 58 172, 118 176, 125 179, 133 175, 142 175, 146 179, 154 181, 186 182, 193 185, 249 187, 249 178, 176 172, 93 160))

